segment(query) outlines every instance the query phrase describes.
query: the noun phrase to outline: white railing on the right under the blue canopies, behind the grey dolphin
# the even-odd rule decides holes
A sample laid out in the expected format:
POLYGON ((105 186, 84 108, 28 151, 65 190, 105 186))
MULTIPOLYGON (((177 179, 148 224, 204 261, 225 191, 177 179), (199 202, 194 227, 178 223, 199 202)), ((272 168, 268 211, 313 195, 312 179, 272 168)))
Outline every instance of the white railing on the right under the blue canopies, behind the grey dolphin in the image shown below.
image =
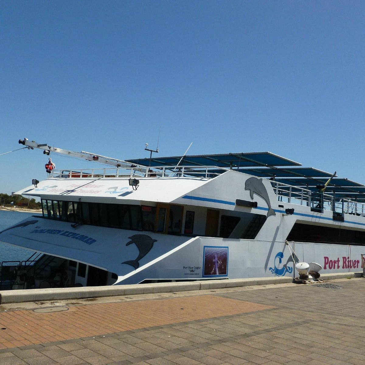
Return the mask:
POLYGON ((363 217, 365 216, 364 203, 325 193, 315 193, 308 189, 283 184, 278 181, 270 181, 270 183, 279 201, 306 205, 307 207, 311 207, 312 211, 317 212, 329 210, 340 214, 346 213, 363 217))

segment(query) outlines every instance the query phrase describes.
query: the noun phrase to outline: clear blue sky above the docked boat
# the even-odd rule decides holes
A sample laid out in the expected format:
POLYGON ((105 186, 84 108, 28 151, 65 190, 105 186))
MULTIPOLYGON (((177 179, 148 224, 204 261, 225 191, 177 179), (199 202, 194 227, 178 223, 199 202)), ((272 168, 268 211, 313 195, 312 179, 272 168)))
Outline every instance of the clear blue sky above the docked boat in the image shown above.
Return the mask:
MULTIPOLYGON (((364 1, 2 1, 0 154, 270 151, 365 184, 364 1)), ((57 169, 98 167, 57 155, 57 169)), ((0 192, 47 177, 0 156, 0 192)))

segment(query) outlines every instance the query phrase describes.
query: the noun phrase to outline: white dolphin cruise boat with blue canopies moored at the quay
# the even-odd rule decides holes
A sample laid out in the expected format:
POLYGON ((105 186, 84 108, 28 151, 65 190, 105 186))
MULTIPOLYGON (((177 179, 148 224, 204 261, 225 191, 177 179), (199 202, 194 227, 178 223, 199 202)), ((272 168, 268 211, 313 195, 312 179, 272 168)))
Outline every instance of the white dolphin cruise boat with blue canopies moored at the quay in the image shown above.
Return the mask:
POLYGON ((56 170, 50 160, 46 180, 16 192, 41 199, 42 214, 0 232, 37 251, 13 288, 294 278, 298 262, 362 271, 365 186, 336 173, 270 152, 122 161, 19 143, 112 166, 56 170))

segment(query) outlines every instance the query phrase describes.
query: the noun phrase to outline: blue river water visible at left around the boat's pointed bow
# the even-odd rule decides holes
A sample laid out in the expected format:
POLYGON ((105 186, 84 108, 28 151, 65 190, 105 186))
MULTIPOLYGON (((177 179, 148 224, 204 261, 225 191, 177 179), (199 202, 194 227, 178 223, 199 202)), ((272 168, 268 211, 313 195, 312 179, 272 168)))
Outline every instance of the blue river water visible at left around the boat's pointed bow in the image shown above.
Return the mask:
MULTIPOLYGON (((0 231, 14 226, 23 219, 31 217, 34 213, 12 212, 0 210, 0 231)), ((1 240, 1 235, 0 235, 1 240)), ((34 251, 22 249, 20 247, 7 245, 0 242, 0 263, 1 261, 22 261, 27 260, 34 251)))

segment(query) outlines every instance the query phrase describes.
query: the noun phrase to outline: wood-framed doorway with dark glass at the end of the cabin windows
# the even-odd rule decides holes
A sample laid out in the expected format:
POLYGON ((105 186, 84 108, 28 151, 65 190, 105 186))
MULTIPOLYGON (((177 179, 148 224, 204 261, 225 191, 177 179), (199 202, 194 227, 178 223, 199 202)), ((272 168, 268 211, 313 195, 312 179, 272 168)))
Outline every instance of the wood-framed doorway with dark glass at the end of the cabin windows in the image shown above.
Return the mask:
POLYGON ((155 232, 180 234, 183 206, 158 203, 156 206, 155 232))

